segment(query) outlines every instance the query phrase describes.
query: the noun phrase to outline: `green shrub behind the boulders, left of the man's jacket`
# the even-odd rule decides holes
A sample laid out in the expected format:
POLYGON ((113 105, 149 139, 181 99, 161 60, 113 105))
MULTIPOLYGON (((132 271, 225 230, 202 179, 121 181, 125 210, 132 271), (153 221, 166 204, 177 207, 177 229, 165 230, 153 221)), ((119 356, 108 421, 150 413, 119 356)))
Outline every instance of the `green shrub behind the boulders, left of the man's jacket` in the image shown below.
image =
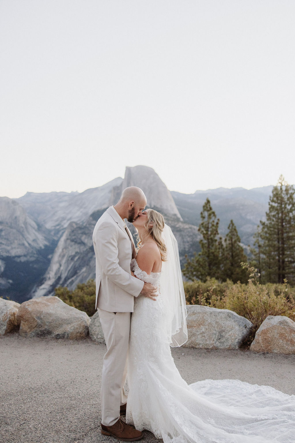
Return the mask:
POLYGON ((88 280, 87 283, 79 283, 77 288, 70 291, 66 287, 59 286, 55 288, 55 295, 69 306, 73 306, 79 311, 86 312, 89 317, 96 313, 95 298, 96 298, 95 281, 88 280))

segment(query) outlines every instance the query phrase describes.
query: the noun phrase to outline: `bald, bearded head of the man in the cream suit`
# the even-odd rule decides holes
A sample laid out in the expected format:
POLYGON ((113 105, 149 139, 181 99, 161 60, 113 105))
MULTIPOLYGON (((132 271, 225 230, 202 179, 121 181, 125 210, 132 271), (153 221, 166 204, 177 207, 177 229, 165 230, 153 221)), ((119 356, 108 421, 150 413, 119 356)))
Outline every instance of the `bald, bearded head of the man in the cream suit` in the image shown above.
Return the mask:
POLYGON ((130 223, 134 221, 146 207, 146 196, 137 186, 125 188, 115 209, 122 218, 127 218, 130 223))

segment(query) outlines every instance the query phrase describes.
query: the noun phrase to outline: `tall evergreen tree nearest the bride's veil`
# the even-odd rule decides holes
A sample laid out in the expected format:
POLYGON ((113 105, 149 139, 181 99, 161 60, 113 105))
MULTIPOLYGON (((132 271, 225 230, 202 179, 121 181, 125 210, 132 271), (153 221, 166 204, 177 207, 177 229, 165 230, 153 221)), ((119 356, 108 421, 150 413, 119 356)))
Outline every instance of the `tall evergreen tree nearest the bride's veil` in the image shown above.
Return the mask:
POLYGON ((207 277, 220 278, 220 264, 222 254, 222 239, 218 237, 219 218, 212 210, 209 198, 203 205, 199 232, 202 238, 199 241, 201 252, 184 265, 183 274, 190 280, 199 279, 206 281, 207 277))

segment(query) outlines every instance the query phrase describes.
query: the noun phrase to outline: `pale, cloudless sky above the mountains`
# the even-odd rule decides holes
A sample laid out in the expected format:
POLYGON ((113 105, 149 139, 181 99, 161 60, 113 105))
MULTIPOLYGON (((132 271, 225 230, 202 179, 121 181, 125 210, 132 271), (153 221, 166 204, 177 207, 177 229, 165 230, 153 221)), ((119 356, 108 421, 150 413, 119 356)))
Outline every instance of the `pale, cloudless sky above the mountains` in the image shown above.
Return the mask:
POLYGON ((0 0, 0 196, 295 183, 294 0, 0 0))

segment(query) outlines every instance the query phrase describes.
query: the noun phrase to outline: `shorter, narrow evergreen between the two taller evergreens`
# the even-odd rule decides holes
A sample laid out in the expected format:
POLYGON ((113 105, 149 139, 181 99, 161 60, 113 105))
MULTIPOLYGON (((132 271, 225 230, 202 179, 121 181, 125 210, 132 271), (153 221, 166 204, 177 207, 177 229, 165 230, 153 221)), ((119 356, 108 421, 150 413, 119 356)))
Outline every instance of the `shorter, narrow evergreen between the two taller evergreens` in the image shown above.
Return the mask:
POLYGON ((241 239, 233 220, 227 228, 229 231, 224 239, 224 248, 222 253, 222 277, 223 280, 232 280, 234 283, 240 281, 247 283, 247 270, 241 267, 241 262, 246 263, 244 249, 241 247, 241 239))

